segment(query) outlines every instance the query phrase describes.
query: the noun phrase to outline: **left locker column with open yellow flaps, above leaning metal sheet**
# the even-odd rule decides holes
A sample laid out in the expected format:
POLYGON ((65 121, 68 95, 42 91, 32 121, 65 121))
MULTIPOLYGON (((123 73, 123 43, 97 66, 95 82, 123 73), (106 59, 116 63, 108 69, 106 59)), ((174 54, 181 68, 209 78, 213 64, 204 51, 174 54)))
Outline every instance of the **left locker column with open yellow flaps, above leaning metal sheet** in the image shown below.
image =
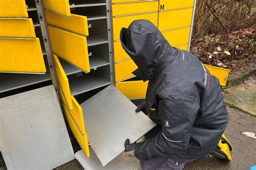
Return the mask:
MULTIPOLYGON (((1 81, 0 97, 5 97, 12 94, 21 93, 22 91, 35 89, 37 88, 37 86, 42 87, 52 83, 53 85, 56 84, 54 67, 52 65, 52 58, 50 53, 50 46, 48 43, 48 35, 45 28, 45 23, 44 23, 45 21, 44 12, 42 11, 41 3, 42 3, 41 1, 34 1, 34 0, 25 0, 25 1, 3 0, 0 2, 1 8, 3 7, 2 9, 4 9, 0 11, 1 13, 0 17, 2 17, 0 22, 10 21, 8 25, 11 30, 11 31, 8 31, 8 34, 5 34, 5 35, 1 34, 1 37, 13 36, 12 39, 2 37, 1 41, 5 39, 5 41, 14 42, 16 45, 15 44, 10 45, 9 43, 5 45, 9 45, 10 47, 9 52, 11 52, 12 54, 16 53, 15 57, 19 57, 19 62, 17 61, 15 62, 17 66, 16 67, 10 66, 8 68, 10 73, 6 71, 3 73, 0 73, 0 81, 1 81), (10 13, 12 15, 10 15, 10 13), (8 18, 3 18, 3 17, 8 17, 8 18), (31 23, 31 19, 32 19, 32 23, 31 23), (21 23, 21 24, 17 26, 18 23, 21 23), (30 43, 31 41, 33 41, 35 44, 30 43), (20 45, 17 46, 18 44, 20 44, 21 46, 20 45), (30 45, 27 46, 25 44, 30 44, 30 45), (19 50, 21 49, 21 47, 23 47, 23 49, 19 50), (33 53, 30 53, 30 50, 33 53), (23 55, 25 52, 26 54, 23 55), (24 59, 31 59, 31 60, 26 62, 24 59), (27 74, 27 73, 18 74, 21 72, 21 70, 18 70, 17 68, 21 67, 22 63, 24 63, 23 70, 26 69, 26 72, 35 73, 33 72, 34 69, 36 70, 41 69, 40 72, 38 71, 37 72, 44 73, 46 68, 46 73, 45 74, 27 74), (35 63, 35 65, 32 65, 32 63, 35 63), (13 69, 16 69, 17 73, 14 73, 13 69)), ((1 31, 3 33, 4 29, 2 29, 1 31)), ((8 51, 8 49, 5 49, 5 50, 8 51)), ((7 59, 7 56, 9 56, 9 52, 8 52, 8 55, 4 55, 4 56, 1 55, 1 56, 7 59)), ((3 59, 3 60, 6 60, 6 59, 3 59)), ((14 63, 12 63, 12 65, 13 64, 14 63)))

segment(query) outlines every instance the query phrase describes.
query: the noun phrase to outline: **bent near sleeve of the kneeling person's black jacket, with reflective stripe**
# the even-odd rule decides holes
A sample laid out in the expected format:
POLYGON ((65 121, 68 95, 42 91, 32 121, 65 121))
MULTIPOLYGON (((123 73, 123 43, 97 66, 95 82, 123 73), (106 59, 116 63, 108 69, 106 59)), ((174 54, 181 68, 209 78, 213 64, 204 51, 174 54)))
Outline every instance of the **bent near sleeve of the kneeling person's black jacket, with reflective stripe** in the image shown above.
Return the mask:
POLYGON ((138 159, 170 157, 188 148, 199 102, 187 97, 169 96, 159 102, 158 108, 162 131, 136 145, 134 155, 138 159))

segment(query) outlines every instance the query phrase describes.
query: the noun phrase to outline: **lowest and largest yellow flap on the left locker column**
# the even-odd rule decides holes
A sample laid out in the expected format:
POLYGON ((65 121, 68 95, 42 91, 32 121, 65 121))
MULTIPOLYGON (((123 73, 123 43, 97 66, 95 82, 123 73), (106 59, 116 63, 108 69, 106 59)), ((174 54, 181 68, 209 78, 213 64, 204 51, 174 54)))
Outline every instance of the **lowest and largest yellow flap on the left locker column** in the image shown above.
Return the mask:
POLYGON ((39 38, 0 39, 0 72, 45 73, 39 38))

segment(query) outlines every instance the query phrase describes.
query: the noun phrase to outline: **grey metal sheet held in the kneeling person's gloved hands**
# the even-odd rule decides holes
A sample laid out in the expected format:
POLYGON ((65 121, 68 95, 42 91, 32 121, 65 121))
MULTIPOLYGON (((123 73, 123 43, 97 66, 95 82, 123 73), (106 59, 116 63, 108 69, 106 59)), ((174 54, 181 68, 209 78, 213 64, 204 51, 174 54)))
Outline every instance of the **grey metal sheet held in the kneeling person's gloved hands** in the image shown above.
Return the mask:
POLYGON ((90 145, 105 166, 124 151, 127 138, 131 143, 154 127, 143 112, 135 112, 130 102, 114 86, 109 86, 81 104, 90 145))

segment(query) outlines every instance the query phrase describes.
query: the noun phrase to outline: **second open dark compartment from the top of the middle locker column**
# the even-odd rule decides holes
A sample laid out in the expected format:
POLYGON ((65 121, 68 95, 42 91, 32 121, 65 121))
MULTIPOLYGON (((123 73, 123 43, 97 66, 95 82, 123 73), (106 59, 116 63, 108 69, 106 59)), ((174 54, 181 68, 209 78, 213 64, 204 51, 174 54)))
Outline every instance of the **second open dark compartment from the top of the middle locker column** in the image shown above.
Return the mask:
POLYGON ((86 16, 87 20, 107 18, 106 6, 90 6, 85 8, 72 8, 71 13, 86 16))

